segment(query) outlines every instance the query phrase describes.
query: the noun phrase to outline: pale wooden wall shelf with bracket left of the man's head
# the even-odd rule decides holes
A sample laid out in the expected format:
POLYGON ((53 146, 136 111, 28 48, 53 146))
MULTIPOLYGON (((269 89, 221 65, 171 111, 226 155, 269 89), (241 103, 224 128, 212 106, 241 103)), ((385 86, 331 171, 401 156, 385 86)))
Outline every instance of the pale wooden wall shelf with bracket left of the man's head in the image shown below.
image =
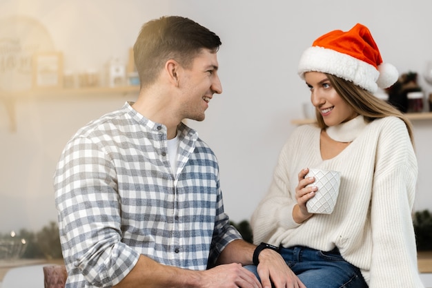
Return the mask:
POLYGON ((10 122, 10 131, 17 130, 17 119, 15 113, 15 103, 20 99, 36 98, 58 98, 67 95, 80 97, 84 95, 127 95, 128 93, 139 92, 139 86, 116 86, 116 87, 86 87, 86 88, 35 88, 25 91, 0 91, 0 101, 6 107, 10 122))

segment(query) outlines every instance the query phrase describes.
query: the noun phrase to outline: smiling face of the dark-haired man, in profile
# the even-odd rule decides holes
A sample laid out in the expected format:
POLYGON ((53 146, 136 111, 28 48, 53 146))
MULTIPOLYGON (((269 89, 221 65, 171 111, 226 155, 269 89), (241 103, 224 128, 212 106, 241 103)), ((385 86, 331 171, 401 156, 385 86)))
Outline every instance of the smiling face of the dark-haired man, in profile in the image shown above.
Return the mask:
POLYGON ((182 115, 184 118, 202 121, 213 94, 222 93, 222 85, 217 75, 217 55, 208 49, 203 49, 193 60, 191 68, 184 69, 180 87, 183 90, 182 115))

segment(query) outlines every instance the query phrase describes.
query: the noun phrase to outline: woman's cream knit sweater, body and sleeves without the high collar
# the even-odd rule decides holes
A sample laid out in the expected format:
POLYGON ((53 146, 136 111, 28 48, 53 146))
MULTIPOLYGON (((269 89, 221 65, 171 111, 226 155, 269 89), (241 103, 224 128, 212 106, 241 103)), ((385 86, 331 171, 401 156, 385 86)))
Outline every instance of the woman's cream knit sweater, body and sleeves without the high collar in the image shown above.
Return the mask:
POLYGON ((268 193, 253 213, 253 239, 283 247, 335 246, 371 288, 423 287, 418 276, 413 207, 418 166, 408 131, 396 117, 376 119, 336 157, 322 160, 320 128, 295 129, 282 148, 268 193), (333 213, 293 220, 304 168, 341 172, 333 213))

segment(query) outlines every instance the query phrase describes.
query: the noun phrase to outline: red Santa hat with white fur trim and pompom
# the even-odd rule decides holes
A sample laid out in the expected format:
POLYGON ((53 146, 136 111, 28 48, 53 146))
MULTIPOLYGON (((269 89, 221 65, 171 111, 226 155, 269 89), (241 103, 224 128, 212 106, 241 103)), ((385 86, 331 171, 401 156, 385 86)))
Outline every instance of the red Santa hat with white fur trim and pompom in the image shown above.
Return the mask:
POLYGON ((359 23, 347 32, 334 30, 316 39, 300 57, 298 74, 304 79, 308 71, 335 75, 371 93, 390 87, 399 77, 395 66, 382 63, 371 32, 359 23))

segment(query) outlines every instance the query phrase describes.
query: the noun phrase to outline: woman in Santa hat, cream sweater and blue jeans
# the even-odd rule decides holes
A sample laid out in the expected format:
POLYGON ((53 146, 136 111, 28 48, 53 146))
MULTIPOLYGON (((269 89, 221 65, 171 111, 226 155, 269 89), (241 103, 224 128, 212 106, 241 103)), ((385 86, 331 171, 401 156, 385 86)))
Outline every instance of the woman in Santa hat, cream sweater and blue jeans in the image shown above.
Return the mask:
POLYGON ((255 243, 280 247, 308 288, 423 287, 411 209, 418 175, 409 120, 373 96, 397 80, 369 29, 357 24, 314 41, 299 75, 317 125, 298 127, 279 155, 273 182, 252 216, 255 243), (308 168, 340 171, 333 213, 313 214, 308 168))

